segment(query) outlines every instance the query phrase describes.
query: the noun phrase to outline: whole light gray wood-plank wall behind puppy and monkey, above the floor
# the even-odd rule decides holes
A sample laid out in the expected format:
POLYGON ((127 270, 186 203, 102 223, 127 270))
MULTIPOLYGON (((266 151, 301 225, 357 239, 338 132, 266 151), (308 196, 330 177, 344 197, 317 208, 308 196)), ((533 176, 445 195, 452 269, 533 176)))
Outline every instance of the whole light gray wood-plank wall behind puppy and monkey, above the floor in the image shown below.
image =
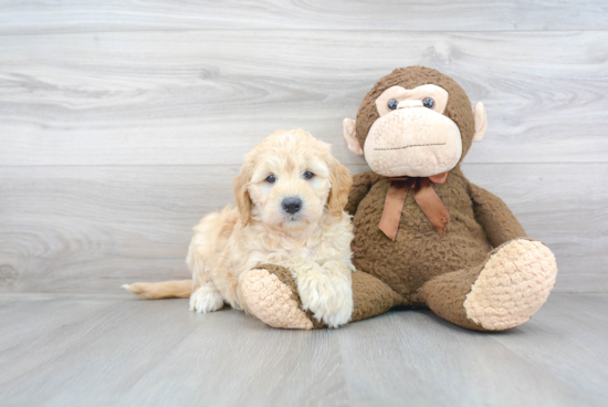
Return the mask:
POLYGON ((608 280, 608 3, 1 1, 0 291, 187 278, 191 227, 276 128, 367 167, 342 119, 398 66, 488 109, 464 171, 549 244, 556 291, 608 280))

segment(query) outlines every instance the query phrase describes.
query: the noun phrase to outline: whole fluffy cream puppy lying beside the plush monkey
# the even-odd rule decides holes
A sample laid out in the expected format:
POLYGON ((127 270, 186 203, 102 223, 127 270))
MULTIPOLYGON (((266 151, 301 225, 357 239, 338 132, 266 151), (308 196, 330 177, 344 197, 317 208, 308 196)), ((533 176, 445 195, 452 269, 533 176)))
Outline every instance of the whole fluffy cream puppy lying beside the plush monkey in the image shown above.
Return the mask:
POLYGON ((352 178, 329 145, 304 131, 277 131, 247 154, 234 179, 237 207, 195 227, 192 280, 123 285, 144 299, 190 298, 190 310, 224 303, 249 312, 240 281, 260 264, 286 268, 304 311, 329 327, 353 312, 353 229, 344 212, 352 178))

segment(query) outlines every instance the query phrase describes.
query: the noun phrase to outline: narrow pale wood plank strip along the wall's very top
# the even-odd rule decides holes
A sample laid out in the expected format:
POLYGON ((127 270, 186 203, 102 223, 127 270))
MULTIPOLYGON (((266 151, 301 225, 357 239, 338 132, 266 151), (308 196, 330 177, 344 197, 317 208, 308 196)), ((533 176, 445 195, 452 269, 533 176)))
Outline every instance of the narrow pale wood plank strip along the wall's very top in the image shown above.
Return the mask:
POLYGON ((19 1, 0 4, 0 34, 206 29, 605 30, 601 0, 559 1, 19 1))

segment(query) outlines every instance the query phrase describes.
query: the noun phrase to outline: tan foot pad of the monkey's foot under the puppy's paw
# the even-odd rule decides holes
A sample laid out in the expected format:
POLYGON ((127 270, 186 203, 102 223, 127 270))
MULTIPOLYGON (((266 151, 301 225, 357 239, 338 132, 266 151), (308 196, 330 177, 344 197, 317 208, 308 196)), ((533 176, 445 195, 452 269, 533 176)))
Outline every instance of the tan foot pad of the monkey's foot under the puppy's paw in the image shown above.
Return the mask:
POLYGON ((266 269, 254 269, 243 274, 241 294, 249 311, 272 327, 316 327, 312 317, 302 310, 300 298, 275 273, 266 269))

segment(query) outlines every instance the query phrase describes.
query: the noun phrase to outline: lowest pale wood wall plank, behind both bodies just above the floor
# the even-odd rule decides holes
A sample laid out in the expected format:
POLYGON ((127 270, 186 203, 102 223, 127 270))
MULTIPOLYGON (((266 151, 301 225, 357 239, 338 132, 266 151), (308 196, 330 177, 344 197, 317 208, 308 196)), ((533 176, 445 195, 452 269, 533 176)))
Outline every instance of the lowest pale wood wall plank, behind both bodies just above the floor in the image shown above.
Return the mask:
MULTIPOLYGON (((365 166, 350 166, 356 174, 365 166)), ((556 292, 606 292, 608 164, 469 164, 557 257, 556 292)), ((201 216, 238 166, 0 167, 0 291, 112 292, 188 278, 201 216)))

